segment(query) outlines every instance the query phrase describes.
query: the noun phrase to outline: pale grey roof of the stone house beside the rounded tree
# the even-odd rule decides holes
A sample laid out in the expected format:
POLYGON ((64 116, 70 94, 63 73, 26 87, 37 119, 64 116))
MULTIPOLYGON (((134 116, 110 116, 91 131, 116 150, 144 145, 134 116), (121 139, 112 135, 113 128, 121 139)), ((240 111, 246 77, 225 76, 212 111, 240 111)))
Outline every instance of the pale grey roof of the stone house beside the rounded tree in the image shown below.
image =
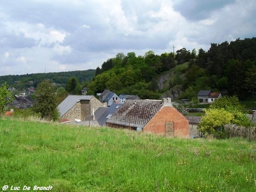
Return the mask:
POLYGON ((67 111, 69 111, 76 102, 79 102, 80 100, 91 100, 93 98, 92 95, 69 95, 64 99, 63 102, 61 102, 60 105, 58 105, 58 109, 60 111, 60 116, 63 116, 67 111))

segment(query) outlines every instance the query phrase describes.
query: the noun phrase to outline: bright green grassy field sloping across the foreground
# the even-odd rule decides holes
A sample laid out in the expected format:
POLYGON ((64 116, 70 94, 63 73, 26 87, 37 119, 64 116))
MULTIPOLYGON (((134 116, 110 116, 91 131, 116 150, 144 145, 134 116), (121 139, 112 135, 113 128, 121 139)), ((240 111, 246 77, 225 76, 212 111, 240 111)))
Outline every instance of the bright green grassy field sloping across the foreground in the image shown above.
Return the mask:
MULTIPOLYGON (((256 143, 0 119, 0 189, 255 192, 256 143)), ((22 191, 22 190, 20 190, 22 191)))

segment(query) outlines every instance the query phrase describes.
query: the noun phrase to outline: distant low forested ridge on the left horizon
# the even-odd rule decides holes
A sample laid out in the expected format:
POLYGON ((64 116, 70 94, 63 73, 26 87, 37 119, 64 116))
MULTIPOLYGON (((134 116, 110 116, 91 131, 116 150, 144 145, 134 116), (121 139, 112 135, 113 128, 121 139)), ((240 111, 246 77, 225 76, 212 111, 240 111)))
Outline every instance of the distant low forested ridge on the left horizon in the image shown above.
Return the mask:
POLYGON ((80 84, 89 83, 95 76, 95 72, 96 70, 81 70, 58 73, 33 73, 26 75, 0 76, 0 84, 3 84, 6 81, 9 87, 26 90, 30 86, 37 87, 38 83, 45 79, 49 79, 52 82, 65 87, 67 80, 71 77, 76 77, 80 84))

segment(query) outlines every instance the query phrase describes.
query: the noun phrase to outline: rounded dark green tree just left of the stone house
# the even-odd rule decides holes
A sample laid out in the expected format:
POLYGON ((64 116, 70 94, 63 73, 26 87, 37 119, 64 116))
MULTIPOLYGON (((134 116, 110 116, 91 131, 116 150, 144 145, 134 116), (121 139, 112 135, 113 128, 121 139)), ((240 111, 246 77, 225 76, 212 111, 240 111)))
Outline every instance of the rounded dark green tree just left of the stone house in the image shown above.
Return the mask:
POLYGON ((48 80, 42 81, 36 89, 33 111, 39 113, 41 118, 56 121, 59 118, 57 106, 55 86, 48 80))

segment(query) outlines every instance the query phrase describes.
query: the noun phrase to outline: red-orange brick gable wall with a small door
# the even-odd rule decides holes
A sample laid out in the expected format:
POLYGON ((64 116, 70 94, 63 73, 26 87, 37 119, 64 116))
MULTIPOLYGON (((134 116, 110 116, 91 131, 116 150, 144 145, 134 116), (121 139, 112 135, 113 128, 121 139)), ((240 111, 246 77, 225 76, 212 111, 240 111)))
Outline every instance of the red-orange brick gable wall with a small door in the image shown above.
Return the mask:
POLYGON ((174 122, 174 137, 189 137, 189 121, 173 107, 163 107, 143 128, 145 132, 165 135, 166 122, 174 122))

